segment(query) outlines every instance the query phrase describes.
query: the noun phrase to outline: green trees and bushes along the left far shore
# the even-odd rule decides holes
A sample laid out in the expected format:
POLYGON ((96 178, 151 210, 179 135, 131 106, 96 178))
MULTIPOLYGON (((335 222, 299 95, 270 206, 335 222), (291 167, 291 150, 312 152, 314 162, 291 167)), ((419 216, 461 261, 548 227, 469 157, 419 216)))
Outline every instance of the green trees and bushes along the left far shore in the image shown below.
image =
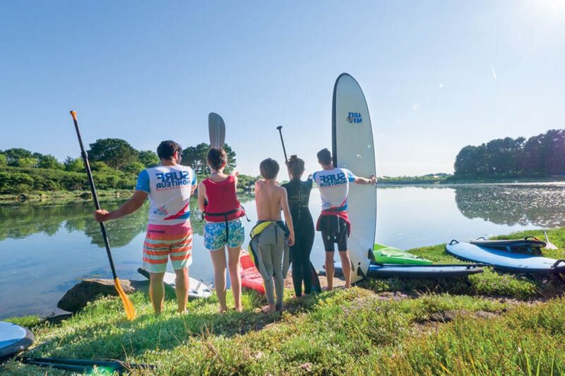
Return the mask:
MULTIPOLYGON (((183 150, 182 164, 191 166, 198 180, 208 174, 206 156, 210 145, 202 142, 183 150)), ((232 171, 236 154, 225 145, 232 171)), ((155 152, 136 150, 126 140, 104 138, 90 144, 87 151, 90 167, 98 189, 133 189, 139 172, 160 163, 155 152)), ((256 178, 239 175, 239 187, 248 188, 256 178)), ((20 194, 34 191, 88 190, 83 160, 66 157, 63 162, 52 154, 31 152, 23 148, 0 150, 0 194, 20 194)))

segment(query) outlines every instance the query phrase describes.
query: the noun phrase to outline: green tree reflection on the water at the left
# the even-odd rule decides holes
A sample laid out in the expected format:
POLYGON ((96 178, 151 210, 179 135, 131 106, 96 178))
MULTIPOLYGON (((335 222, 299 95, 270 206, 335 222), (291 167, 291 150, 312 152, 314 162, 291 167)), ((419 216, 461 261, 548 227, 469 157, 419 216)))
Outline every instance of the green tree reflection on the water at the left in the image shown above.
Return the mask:
MULTIPOLYGON (((252 195, 240 195, 242 203, 254 199, 252 195)), ((121 202, 104 202, 102 207, 114 210, 121 202)), ((250 202, 249 205, 254 205, 250 202)), ((190 202, 191 224, 196 234, 203 235, 204 222, 198 210, 196 198, 190 202)), ((129 244, 133 238, 145 232, 148 222, 148 202, 137 212, 115 221, 106 222, 106 228, 113 247, 129 244)), ((0 241, 6 238, 26 238, 43 233, 52 236, 64 228, 69 234, 80 231, 91 238, 92 243, 104 247, 100 225, 93 219, 93 202, 83 201, 66 205, 0 205, 0 241)))

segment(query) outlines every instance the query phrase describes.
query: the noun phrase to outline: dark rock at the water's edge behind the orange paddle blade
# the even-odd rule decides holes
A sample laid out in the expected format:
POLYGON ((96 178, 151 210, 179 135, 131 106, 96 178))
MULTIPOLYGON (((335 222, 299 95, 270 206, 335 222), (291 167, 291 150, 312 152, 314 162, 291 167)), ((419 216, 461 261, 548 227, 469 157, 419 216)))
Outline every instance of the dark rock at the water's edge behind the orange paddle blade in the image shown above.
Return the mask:
MULTIPOLYGON (((127 279, 121 280, 120 284, 125 293, 135 291, 127 279)), ((113 279, 83 279, 65 293, 57 303, 57 307, 76 313, 85 308, 88 302, 95 301, 100 296, 118 296, 113 279)))

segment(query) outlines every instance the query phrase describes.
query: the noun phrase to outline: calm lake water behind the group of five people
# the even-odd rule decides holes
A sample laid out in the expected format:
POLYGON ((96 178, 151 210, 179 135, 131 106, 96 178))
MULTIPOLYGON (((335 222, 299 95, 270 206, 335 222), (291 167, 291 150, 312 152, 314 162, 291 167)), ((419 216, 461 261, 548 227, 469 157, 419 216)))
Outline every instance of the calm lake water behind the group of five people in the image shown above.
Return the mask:
MULTIPOLYGON (((384 186, 377 189, 377 241, 401 249, 445 243, 452 238, 509 234, 524 229, 565 226, 565 183, 523 183, 460 186, 384 186)), ((251 222, 252 197, 242 199, 251 222)), ((121 202, 104 202, 112 210, 121 202)), ((62 313, 57 301, 78 279, 111 278, 100 226, 93 220, 93 202, 71 205, 23 203, 0 205, 0 318, 62 313)), ((317 190, 310 207, 320 212, 317 190)), ((212 262, 203 247, 203 222, 192 205, 194 248, 191 277, 213 280, 212 262)), ((143 279, 141 249, 147 205, 108 224, 112 254, 121 279, 143 279)), ((353 224, 355 231, 355 224, 353 224)), ((244 246, 247 246, 246 238, 244 246)), ((323 264, 323 245, 316 234, 311 260, 323 264)), ((170 268, 170 265, 169 265, 170 268)))

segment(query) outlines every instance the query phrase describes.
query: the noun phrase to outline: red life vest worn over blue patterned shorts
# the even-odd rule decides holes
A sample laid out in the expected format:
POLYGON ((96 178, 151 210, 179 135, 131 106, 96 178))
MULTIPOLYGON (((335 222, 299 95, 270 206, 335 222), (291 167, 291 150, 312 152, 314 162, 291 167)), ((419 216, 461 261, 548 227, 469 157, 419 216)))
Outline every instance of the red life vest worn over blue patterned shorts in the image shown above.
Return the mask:
POLYGON ((204 210, 204 218, 208 222, 228 222, 244 217, 245 212, 237 200, 235 176, 230 175, 225 181, 216 183, 206 178, 202 182, 206 187, 208 205, 204 210))

